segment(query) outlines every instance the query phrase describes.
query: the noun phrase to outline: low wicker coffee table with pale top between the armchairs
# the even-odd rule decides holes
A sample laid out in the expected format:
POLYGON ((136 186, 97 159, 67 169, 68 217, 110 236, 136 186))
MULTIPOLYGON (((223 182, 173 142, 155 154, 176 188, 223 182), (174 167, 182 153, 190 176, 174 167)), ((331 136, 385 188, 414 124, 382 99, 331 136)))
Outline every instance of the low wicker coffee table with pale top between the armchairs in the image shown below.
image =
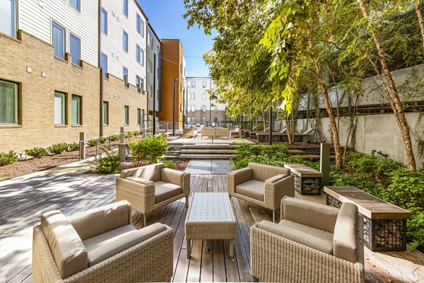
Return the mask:
POLYGON ((236 219, 227 192, 196 192, 190 202, 184 224, 187 258, 192 254, 192 240, 230 240, 230 257, 234 257, 236 219))

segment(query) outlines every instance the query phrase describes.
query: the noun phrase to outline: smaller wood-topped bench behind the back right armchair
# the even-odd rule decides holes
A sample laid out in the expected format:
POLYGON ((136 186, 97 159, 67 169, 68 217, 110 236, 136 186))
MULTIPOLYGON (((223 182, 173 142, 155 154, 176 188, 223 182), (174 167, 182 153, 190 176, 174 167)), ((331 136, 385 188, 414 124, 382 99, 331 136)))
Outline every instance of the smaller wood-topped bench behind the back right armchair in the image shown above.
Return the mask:
POLYGON ((295 175, 295 190, 300 195, 321 195, 322 173, 303 164, 284 164, 295 175))

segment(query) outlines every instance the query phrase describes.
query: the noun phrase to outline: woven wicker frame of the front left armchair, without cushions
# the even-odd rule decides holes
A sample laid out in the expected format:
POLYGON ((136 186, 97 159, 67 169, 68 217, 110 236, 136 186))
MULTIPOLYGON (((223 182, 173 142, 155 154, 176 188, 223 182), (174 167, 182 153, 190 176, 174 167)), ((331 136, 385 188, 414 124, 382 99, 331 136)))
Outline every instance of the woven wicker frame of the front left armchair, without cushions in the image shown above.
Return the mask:
POLYGON ((61 279, 40 226, 33 233, 34 282, 165 282, 172 277, 172 228, 114 255, 93 267, 61 279))

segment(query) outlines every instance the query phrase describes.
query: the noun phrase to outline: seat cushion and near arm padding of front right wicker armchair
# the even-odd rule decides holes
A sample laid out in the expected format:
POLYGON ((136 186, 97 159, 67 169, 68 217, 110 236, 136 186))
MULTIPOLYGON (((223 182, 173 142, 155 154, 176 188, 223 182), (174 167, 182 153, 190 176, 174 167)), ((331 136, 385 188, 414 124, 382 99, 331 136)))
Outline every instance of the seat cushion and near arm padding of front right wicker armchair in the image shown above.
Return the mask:
POLYGON ((332 233, 287 220, 282 220, 279 224, 261 221, 258 227, 323 253, 333 254, 332 233))

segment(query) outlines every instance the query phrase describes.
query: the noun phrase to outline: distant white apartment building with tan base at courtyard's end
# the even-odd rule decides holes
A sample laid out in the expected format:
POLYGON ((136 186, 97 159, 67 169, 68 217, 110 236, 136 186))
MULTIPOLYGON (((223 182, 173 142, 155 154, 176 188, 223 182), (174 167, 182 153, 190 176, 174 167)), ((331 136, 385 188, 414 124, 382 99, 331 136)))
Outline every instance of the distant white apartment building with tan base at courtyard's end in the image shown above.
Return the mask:
POLYGON ((225 104, 210 96, 211 77, 187 76, 187 125, 218 125, 225 121, 225 104))

